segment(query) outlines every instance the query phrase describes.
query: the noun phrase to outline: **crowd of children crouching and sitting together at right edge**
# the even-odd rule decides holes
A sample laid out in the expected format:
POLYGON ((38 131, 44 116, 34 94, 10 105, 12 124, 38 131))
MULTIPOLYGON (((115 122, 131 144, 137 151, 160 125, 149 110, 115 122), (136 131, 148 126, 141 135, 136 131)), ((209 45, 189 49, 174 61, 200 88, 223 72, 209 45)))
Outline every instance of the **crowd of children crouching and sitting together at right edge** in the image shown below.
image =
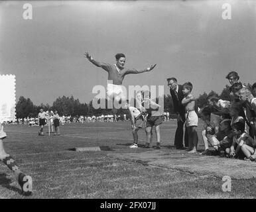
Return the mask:
POLYGON ((208 105, 200 109, 205 123, 202 137, 205 150, 201 154, 214 154, 254 161, 256 158, 256 83, 246 87, 239 82, 236 72, 229 72, 231 101, 216 95, 208 96, 208 105))

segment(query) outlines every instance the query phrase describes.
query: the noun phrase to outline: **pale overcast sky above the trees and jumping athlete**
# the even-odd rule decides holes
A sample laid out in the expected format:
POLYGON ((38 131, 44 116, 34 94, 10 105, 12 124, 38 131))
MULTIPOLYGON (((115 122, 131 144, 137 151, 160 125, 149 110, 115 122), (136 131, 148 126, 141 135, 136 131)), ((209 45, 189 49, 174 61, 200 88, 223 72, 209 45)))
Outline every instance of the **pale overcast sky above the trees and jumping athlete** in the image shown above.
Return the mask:
POLYGON ((123 85, 191 81, 198 97, 220 93, 235 70, 256 81, 256 3, 253 1, 1 1, 0 74, 15 74, 16 97, 34 104, 74 95, 88 103, 107 72, 84 58, 115 63, 123 52, 127 68, 150 73, 126 76, 123 85), (23 19, 31 3, 32 20, 23 19), (222 5, 231 5, 231 20, 222 5))

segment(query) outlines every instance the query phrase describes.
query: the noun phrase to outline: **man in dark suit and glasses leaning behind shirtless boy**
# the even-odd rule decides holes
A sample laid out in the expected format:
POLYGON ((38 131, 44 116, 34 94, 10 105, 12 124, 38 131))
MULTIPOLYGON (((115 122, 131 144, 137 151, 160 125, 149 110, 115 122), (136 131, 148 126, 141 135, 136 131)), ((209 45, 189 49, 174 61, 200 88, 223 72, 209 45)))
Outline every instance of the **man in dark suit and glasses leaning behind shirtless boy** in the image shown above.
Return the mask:
MULTIPOLYGON (((168 78, 168 86, 170 87, 170 95, 174 105, 174 112, 177 114, 177 129, 175 132, 174 145, 176 149, 183 149, 183 127, 186 121, 185 119, 185 108, 181 101, 184 98, 182 92, 182 85, 178 85, 176 78, 168 78)), ((186 128, 186 127, 185 127, 186 128)), ((188 146, 188 133, 185 130, 185 146, 188 146)))

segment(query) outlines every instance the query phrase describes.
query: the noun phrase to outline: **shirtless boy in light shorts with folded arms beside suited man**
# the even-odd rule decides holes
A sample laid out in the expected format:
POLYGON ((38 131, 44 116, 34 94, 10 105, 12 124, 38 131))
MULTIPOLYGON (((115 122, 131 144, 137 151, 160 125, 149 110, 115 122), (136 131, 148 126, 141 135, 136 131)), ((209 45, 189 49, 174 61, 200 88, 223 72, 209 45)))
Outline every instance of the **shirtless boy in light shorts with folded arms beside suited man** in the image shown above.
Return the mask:
POLYGON ((193 85, 190 81, 182 85, 182 92, 184 93, 184 99, 182 99, 182 105, 185 106, 186 111, 186 127, 188 129, 188 153, 196 153, 198 145, 198 133, 196 127, 198 126, 198 115, 195 111, 195 97, 191 94, 193 85))

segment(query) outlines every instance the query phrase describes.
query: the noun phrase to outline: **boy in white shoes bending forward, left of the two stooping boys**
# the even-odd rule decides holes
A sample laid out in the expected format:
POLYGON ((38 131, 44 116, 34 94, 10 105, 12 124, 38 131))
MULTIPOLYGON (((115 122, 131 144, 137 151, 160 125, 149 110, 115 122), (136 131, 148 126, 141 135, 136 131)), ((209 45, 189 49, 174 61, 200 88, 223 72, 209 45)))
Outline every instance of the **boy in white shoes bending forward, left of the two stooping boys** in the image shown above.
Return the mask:
POLYGON ((136 107, 131 107, 129 101, 127 100, 126 108, 129 109, 131 129, 133 132, 133 144, 129 146, 130 148, 138 148, 138 131, 143 128, 144 118, 141 115, 141 111, 136 107))

